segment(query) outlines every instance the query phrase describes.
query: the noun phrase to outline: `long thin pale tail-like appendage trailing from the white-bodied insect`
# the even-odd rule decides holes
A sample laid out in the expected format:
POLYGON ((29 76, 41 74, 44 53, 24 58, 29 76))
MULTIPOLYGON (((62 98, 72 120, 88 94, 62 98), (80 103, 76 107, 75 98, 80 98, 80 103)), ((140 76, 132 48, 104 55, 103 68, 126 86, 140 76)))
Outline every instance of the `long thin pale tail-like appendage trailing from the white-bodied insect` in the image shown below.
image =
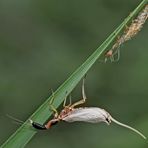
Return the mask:
POLYGON ((120 126, 122 126, 122 127, 125 127, 125 128, 130 129, 130 130, 134 131, 135 133, 137 133, 138 135, 140 135, 142 138, 146 139, 146 137, 145 137, 141 132, 139 132, 138 130, 134 129, 133 127, 130 127, 129 125, 123 124, 123 123, 117 121, 116 119, 114 119, 114 118, 111 117, 111 116, 110 116, 110 119, 111 119, 114 123, 116 123, 116 124, 118 124, 118 125, 120 125, 120 126))

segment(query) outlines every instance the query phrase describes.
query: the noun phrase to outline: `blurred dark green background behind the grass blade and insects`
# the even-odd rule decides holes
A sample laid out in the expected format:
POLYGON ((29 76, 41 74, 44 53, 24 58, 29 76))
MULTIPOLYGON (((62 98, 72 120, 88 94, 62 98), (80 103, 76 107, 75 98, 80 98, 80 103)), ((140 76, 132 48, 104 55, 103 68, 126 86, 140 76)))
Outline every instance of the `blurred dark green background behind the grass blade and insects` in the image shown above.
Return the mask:
MULTIPOLYGON (((0 144, 113 32, 140 0, 0 0, 0 144)), ((121 47, 117 63, 97 62, 86 80, 87 106, 99 106, 148 137, 147 29, 121 47)), ((73 101, 81 97, 80 84, 73 101)), ((27 148, 147 148, 111 124, 60 123, 27 148)))

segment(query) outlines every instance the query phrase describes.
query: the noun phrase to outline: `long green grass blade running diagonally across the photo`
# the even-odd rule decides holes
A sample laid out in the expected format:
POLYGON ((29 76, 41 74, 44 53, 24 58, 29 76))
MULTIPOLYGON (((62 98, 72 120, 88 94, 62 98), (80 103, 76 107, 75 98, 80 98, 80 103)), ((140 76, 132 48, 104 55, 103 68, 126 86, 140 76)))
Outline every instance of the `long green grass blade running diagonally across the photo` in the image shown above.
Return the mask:
MULTIPOLYGON (((66 92, 69 94, 83 76, 88 72, 101 54, 109 47, 109 45, 117 38, 125 25, 131 21, 134 16, 140 12, 148 0, 143 0, 138 7, 121 23, 121 25, 102 43, 96 51, 88 57, 88 59, 55 91, 54 106, 57 108, 64 100, 66 92)), ((32 115, 31 119, 36 122, 44 123, 51 115, 49 110, 49 97, 32 115)), ((1 146, 2 148, 22 148, 37 132, 28 125, 28 120, 16 130, 16 132, 8 138, 1 146)))

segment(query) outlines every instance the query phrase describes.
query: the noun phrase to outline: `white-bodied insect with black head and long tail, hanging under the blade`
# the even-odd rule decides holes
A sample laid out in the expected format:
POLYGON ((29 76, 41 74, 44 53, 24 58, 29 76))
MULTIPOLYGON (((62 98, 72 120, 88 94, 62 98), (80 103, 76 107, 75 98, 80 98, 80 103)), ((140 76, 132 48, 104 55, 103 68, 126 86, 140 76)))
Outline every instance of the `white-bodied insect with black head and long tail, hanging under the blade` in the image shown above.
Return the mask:
MULTIPOLYGON (((54 111, 54 118, 49 120, 45 125, 39 124, 37 122, 34 122, 30 120, 30 123, 35 129, 40 130, 47 130, 50 129, 53 125, 57 124, 60 121, 66 121, 66 122, 76 122, 76 121, 82 121, 82 122, 89 122, 89 123, 99 123, 99 122, 105 122, 107 125, 110 125, 111 122, 114 122, 122 127, 128 128, 137 134, 139 134, 142 138, 146 139, 146 137, 139 132, 138 130, 123 124, 117 120, 115 120, 107 111, 104 109, 101 109, 99 107, 77 107, 78 105, 81 105, 85 103, 86 101, 86 94, 84 90, 84 79, 82 83, 82 96, 83 99, 74 103, 74 104, 66 104, 66 98, 64 100, 64 108, 63 110, 58 114, 57 110, 52 106, 54 97, 52 98, 50 102, 50 108, 54 111)), ((71 102, 71 101, 70 101, 71 102)))

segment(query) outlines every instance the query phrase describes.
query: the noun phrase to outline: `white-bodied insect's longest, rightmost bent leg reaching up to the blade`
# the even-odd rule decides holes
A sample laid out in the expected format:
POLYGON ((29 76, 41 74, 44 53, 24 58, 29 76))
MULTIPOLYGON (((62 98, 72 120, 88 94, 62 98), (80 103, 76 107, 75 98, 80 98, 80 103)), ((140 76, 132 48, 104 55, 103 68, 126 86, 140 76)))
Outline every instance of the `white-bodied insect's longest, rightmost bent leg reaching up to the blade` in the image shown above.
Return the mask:
POLYGON ((83 99, 78 101, 78 102, 75 102, 73 105, 71 105, 72 108, 74 108, 77 105, 84 104, 85 101, 86 101, 86 94, 85 94, 85 90, 84 90, 84 83, 85 83, 85 78, 83 78, 83 83, 82 83, 82 97, 83 97, 83 99))

